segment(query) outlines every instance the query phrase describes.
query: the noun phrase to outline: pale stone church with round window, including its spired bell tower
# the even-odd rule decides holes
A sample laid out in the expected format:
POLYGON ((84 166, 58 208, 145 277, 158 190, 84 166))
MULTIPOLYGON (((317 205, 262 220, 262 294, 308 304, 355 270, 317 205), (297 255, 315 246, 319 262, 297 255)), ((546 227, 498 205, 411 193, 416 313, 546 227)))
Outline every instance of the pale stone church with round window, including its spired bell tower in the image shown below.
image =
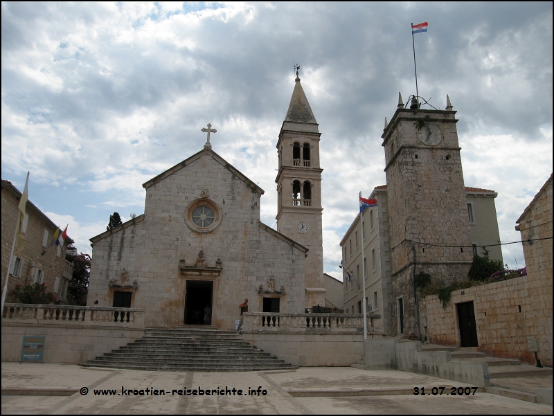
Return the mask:
POLYGON ((296 85, 278 138, 278 231, 260 221, 264 191, 204 149, 143 184, 144 214, 91 238, 87 305, 145 310, 146 327, 235 329, 249 311, 323 305, 318 125, 296 85))

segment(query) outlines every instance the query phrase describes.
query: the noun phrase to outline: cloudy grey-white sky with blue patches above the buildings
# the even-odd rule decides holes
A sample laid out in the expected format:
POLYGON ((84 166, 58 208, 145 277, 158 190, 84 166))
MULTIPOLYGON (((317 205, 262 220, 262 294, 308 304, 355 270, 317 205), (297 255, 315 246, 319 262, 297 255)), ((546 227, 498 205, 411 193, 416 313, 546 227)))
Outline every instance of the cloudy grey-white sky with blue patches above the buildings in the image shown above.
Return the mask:
MULTIPOLYGON (((321 136, 325 271, 357 195, 386 182, 381 134, 398 92, 452 100, 466 186, 496 190, 502 241, 552 172, 552 3, 2 3, 2 179, 78 251, 144 210, 142 183, 202 149, 265 190, 293 60, 321 136)), ((520 244, 503 247, 510 266, 520 244)))

